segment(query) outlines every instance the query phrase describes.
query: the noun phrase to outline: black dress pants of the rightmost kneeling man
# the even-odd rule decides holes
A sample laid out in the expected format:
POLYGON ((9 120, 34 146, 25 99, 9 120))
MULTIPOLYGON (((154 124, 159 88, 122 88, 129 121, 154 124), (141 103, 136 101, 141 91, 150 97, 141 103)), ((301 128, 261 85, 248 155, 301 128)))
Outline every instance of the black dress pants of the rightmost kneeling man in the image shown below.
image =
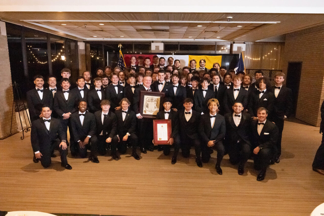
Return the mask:
POLYGON ((262 148, 258 154, 253 154, 254 159, 254 169, 256 170, 266 170, 270 164, 270 160, 273 155, 276 153, 275 149, 271 148, 262 148))

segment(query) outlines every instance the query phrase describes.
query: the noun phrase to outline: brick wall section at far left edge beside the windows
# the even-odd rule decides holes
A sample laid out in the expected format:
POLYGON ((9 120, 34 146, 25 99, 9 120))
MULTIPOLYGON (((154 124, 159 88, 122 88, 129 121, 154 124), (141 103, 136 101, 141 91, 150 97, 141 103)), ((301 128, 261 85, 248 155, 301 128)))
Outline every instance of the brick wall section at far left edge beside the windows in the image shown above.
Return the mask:
MULTIPOLYGON (((0 21, 0 139, 10 136, 13 91, 11 84, 11 70, 9 62, 6 24, 0 21)), ((16 114, 12 123, 12 133, 17 132, 16 114)))

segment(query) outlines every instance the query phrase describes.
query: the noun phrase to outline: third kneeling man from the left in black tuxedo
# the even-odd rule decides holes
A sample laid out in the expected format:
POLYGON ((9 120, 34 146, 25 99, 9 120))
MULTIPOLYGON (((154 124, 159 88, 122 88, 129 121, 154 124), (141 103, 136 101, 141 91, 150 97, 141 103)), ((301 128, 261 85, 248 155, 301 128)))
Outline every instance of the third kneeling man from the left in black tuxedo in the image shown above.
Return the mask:
POLYGON ((116 152, 117 137, 117 118, 113 112, 110 112, 110 101, 103 100, 100 102, 100 111, 95 112, 96 124, 97 124, 97 138, 98 138, 98 150, 101 155, 107 153, 107 143, 110 144, 111 156, 114 160, 118 161, 119 157, 116 152))

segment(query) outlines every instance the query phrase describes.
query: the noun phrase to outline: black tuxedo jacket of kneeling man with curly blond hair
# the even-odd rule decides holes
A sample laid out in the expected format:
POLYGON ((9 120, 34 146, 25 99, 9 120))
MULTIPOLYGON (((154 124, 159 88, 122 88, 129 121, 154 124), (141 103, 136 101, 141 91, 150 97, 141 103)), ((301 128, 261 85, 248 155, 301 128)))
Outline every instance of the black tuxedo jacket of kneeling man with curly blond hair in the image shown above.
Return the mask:
POLYGON ((215 143, 221 141, 225 137, 226 124, 223 115, 216 114, 214 127, 210 124, 209 112, 203 114, 200 119, 199 134, 204 144, 210 140, 215 140, 215 143))

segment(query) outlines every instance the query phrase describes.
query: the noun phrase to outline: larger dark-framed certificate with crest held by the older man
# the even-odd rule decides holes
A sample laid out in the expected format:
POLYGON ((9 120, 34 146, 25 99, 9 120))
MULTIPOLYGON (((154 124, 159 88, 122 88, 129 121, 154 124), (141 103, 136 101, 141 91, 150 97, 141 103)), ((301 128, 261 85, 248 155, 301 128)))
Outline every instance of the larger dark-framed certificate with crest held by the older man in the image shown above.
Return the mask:
POLYGON ((140 92, 140 114, 144 118, 155 118, 160 110, 164 92, 141 91, 140 92))

